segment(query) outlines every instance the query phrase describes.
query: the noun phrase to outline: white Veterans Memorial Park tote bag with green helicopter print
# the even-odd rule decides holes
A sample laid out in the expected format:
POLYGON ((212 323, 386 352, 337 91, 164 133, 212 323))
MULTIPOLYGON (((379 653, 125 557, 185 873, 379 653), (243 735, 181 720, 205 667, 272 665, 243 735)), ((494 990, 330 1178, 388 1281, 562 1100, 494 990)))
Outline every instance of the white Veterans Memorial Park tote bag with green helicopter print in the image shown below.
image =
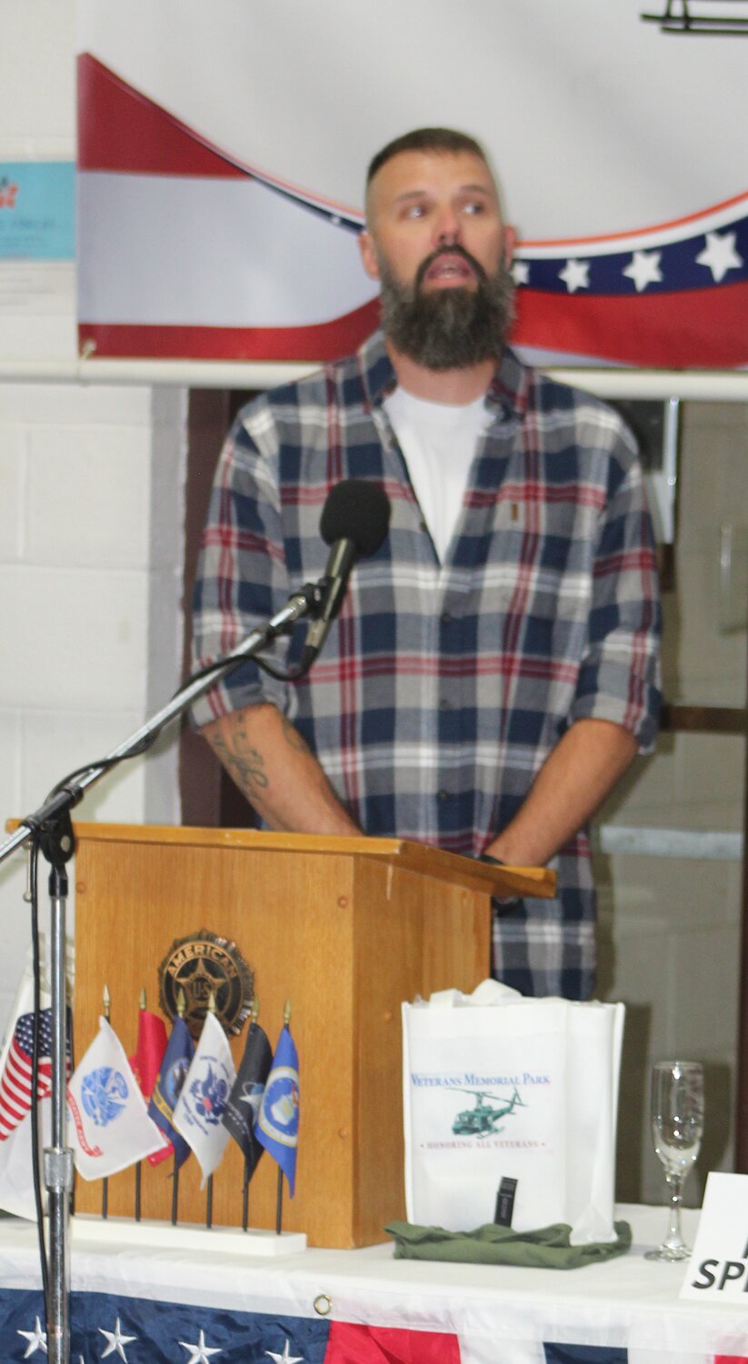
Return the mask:
POLYGON ((575 1245, 616 1240, 624 1005, 485 981, 473 996, 403 1004, 402 1023, 409 1222, 568 1222, 575 1245))

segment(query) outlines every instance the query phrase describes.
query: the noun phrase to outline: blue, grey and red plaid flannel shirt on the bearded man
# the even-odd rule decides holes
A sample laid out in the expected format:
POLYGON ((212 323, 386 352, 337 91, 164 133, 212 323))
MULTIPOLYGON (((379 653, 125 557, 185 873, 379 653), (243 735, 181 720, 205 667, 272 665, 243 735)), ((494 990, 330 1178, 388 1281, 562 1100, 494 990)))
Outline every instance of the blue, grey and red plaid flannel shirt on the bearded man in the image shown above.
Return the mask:
MULTIPOLYGON (((480 855, 575 720, 616 722, 651 746, 651 525, 619 416, 507 351, 440 563, 383 408, 395 382, 376 333, 356 356, 238 415, 204 532, 196 660, 233 648, 323 574, 319 518, 341 479, 381 484, 391 528, 357 563, 307 678, 277 682, 245 663, 198 702, 195 719, 271 701, 367 833, 480 855)), ((304 634, 274 645, 275 662, 296 662, 304 634)), ((585 831, 552 865, 556 899, 495 915, 493 968, 526 994, 585 998, 595 919, 585 831)))

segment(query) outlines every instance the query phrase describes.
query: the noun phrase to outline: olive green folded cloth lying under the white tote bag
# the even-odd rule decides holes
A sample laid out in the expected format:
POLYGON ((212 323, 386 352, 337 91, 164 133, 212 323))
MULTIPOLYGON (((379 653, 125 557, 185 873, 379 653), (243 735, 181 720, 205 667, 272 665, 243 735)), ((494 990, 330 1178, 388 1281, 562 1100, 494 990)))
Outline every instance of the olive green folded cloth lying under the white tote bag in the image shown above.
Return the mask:
POLYGON ((452 1260, 466 1264, 520 1264, 526 1269, 578 1270, 609 1260, 631 1249, 631 1226, 614 1222, 614 1241, 571 1245, 571 1226, 556 1222, 537 1232, 512 1232, 488 1222, 474 1232, 446 1232, 441 1226, 390 1222, 384 1228, 395 1241, 396 1260, 452 1260))

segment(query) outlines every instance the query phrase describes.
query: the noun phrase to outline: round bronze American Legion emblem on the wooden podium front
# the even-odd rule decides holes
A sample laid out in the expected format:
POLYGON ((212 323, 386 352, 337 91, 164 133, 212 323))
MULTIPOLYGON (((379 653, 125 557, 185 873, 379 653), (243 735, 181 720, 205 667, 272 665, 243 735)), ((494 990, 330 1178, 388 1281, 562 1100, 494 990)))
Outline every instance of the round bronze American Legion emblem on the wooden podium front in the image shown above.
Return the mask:
POLYGON ((184 993, 184 1022, 198 1039, 213 994, 215 1015, 229 1035, 238 1035, 249 1015, 255 979, 236 943, 200 929, 176 938, 158 968, 159 1005, 168 1018, 184 993))

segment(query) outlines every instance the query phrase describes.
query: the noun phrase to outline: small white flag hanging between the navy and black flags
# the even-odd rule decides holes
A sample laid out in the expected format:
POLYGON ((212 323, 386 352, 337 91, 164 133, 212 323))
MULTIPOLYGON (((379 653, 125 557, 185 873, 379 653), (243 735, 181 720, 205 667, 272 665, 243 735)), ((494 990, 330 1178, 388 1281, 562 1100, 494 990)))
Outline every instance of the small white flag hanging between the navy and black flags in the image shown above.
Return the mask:
POLYGON ((221 1118, 236 1079, 234 1063, 221 1023, 206 1013, 200 1041, 187 1072, 172 1123, 192 1147, 203 1184, 226 1150, 229 1129, 221 1118))

